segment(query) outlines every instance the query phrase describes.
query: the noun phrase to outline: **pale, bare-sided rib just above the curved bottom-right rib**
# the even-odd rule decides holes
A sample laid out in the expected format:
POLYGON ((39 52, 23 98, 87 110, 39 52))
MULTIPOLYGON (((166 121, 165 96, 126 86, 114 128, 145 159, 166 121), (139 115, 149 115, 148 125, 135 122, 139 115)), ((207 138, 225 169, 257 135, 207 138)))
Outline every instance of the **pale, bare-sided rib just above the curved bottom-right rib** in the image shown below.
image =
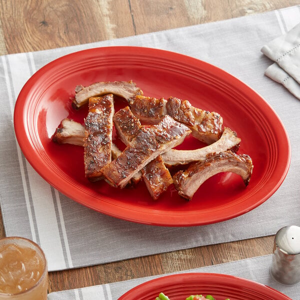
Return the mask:
POLYGON ((195 150, 170 149, 161 154, 162 160, 169 167, 177 164, 187 164, 193 161, 205 160, 209 153, 219 153, 231 150, 236 152, 239 148, 240 138, 236 132, 224 127, 221 137, 210 145, 195 150))

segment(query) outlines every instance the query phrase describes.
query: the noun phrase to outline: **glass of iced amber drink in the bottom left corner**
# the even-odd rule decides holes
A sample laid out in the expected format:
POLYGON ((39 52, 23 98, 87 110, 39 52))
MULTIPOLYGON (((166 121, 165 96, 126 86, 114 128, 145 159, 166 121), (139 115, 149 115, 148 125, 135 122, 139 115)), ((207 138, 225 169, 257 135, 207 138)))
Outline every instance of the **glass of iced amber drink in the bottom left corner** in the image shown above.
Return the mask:
POLYGON ((0 239, 0 300, 46 300, 47 289, 42 249, 23 237, 0 239))

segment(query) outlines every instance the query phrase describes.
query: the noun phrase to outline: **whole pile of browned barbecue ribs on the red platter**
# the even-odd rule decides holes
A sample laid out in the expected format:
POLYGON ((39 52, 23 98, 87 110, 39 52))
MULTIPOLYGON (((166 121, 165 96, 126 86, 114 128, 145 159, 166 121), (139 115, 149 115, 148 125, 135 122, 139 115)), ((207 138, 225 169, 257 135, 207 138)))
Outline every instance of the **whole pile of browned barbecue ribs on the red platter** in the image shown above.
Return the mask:
POLYGON ((222 128, 222 117, 216 112, 176 97, 144 96, 131 80, 76 86, 73 107, 85 103, 84 124, 63 119, 52 139, 84 147, 85 177, 92 182, 104 179, 123 188, 143 179, 155 200, 172 183, 189 200, 207 178, 224 171, 240 175, 245 186, 249 183, 252 160, 236 153, 240 138, 230 128, 222 128), (127 101, 115 113, 113 95, 127 101), (124 144, 122 151, 112 142, 113 126, 124 144), (207 145, 174 149, 189 134, 207 145), (177 170, 171 175, 174 167, 177 170))

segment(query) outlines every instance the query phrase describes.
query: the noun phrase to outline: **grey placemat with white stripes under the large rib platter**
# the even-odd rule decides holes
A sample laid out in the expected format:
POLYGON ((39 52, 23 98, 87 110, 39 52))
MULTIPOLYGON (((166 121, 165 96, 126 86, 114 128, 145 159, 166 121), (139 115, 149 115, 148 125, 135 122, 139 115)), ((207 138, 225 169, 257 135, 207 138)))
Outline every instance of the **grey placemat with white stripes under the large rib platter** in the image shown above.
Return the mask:
POLYGON ((300 6, 293 6, 91 44, 1 56, 0 206, 6 235, 38 242, 48 257, 49 270, 58 270, 264 236, 288 224, 300 225, 300 103, 283 86, 264 76, 271 61, 260 52, 263 44, 299 21, 300 6), (228 221, 170 228, 103 215, 72 201, 44 181, 25 160, 15 140, 15 99, 25 81, 47 62, 77 50, 111 45, 187 54, 223 68, 260 93, 282 119, 291 142, 290 169, 276 193, 254 210, 228 221))

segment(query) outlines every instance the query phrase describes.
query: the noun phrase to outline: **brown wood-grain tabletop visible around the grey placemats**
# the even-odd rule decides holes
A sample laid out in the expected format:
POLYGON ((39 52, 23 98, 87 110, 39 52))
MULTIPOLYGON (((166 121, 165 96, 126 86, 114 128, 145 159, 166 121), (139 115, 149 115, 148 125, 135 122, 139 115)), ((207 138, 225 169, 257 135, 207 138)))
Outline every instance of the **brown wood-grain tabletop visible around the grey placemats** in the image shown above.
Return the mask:
MULTIPOLYGON (((0 55, 255 14, 299 0, 0 0, 0 55)), ((0 237, 4 237, 0 219, 0 237)), ((49 292, 269 254, 273 236, 49 273, 49 292)))

